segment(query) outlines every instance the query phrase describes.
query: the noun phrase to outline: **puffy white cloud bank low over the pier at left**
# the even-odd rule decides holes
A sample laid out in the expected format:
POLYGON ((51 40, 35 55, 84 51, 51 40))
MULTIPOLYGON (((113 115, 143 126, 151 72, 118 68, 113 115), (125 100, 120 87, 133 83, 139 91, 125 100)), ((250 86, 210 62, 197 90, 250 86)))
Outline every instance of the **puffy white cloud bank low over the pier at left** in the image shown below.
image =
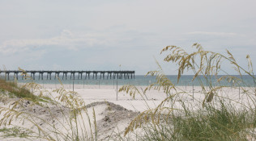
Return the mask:
POLYGON ((10 39, 0 44, 0 52, 23 52, 41 46, 62 46, 70 50, 76 50, 78 46, 92 46, 100 41, 93 35, 74 35, 71 31, 63 30, 58 36, 49 39, 10 39))

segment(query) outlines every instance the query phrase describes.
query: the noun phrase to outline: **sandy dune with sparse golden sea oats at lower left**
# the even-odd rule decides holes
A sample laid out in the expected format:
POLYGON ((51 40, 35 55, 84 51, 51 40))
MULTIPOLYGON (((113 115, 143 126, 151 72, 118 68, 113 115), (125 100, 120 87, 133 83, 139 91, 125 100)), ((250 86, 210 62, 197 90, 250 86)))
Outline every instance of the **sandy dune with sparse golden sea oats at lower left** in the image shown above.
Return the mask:
POLYGON ((92 108, 91 118, 78 93, 67 91, 63 85, 49 92, 32 79, 29 81, 29 77, 28 83, 20 87, 13 82, 0 82, 2 94, 15 97, 7 106, 0 107, 0 132, 5 134, 4 137, 14 136, 15 129, 21 129, 25 132, 14 137, 51 141, 97 140, 95 111, 92 108))

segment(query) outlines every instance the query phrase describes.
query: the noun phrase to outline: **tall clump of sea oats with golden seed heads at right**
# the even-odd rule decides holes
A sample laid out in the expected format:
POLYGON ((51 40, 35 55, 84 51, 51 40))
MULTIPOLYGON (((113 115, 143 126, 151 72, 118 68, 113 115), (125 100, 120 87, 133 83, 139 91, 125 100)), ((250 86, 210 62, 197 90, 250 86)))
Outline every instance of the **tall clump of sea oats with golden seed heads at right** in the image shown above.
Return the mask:
MULTIPOLYGON (((156 76, 156 82, 139 90, 134 85, 124 85, 119 92, 124 91, 130 96, 144 95, 151 89, 166 93, 166 98, 154 109, 148 109, 139 114, 127 126, 125 135, 141 127, 142 140, 249 140, 256 139, 256 87, 253 64, 250 56, 248 69, 237 63, 231 52, 227 55, 205 51, 200 44, 192 46, 194 52, 186 52, 177 46, 167 46, 160 53, 167 52, 164 61, 177 64, 177 82, 170 81, 164 70, 156 61, 159 68, 148 72, 147 75, 156 76), (231 64, 238 77, 229 75, 222 65, 231 64), (181 75, 190 71, 194 73, 191 80, 198 81, 203 99, 194 98, 194 92, 177 87, 181 75), (219 74, 224 76, 219 77, 219 74), (253 81, 244 81, 244 75, 253 81), (217 80, 217 81, 215 81, 217 80), (225 95, 228 85, 232 89, 241 89, 242 98, 237 93, 225 95), (193 99, 187 101, 186 99, 193 99)), ((147 76, 146 75, 146 76, 147 76)), ((240 94, 240 93, 239 93, 240 94)))

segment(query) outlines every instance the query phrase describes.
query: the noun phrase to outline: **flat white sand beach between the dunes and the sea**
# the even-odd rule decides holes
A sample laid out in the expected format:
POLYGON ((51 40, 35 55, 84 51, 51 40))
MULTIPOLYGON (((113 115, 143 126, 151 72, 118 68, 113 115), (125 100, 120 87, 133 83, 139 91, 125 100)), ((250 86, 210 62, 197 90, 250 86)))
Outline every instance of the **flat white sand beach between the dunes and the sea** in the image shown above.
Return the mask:
MULTIPOLYGON (((58 89, 60 86, 61 85, 44 85, 44 89, 52 91, 53 89, 58 89)), ((137 93, 133 98, 129 93, 117 92, 117 89, 120 89, 121 87, 122 86, 120 85, 100 85, 100 87, 98 85, 74 85, 74 91, 79 93, 87 104, 92 102, 113 102, 114 104, 123 106, 127 110, 140 112, 148 110, 148 108, 155 108, 167 97, 163 90, 158 91, 156 89, 151 89, 146 95, 137 93)), ((136 87, 141 93, 141 89, 146 88, 146 86, 136 87)), ((64 85, 64 88, 68 91, 73 91, 72 85, 64 85)), ((219 90, 216 94, 221 97, 231 98, 237 102, 243 102, 247 100, 243 95, 243 89, 252 90, 252 88, 249 87, 240 89, 235 87, 225 87, 222 90, 219 90)), ((207 90, 209 91, 209 89, 207 90)), ((172 90, 172 92, 175 93, 174 90, 172 90)), ((200 86, 180 86, 177 87, 177 92, 186 92, 185 94, 180 94, 179 98, 183 101, 192 102, 191 104, 194 103, 194 105, 196 105, 197 102, 202 102, 205 98, 205 94, 200 86), (190 97, 188 95, 190 95, 190 97)))

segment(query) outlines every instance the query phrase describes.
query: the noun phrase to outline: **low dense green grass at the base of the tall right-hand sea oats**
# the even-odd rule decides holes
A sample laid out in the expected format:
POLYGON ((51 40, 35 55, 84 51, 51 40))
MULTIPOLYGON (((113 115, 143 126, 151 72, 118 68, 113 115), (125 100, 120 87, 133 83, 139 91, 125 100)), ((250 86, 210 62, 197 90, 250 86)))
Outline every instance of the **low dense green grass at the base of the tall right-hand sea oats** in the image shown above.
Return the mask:
POLYGON ((156 127, 143 125, 141 140, 248 140, 255 121, 254 114, 230 103, 220 102, 218 108, 210 104, 196 112, 184 106, 184 111, 163 118, 156 127))

